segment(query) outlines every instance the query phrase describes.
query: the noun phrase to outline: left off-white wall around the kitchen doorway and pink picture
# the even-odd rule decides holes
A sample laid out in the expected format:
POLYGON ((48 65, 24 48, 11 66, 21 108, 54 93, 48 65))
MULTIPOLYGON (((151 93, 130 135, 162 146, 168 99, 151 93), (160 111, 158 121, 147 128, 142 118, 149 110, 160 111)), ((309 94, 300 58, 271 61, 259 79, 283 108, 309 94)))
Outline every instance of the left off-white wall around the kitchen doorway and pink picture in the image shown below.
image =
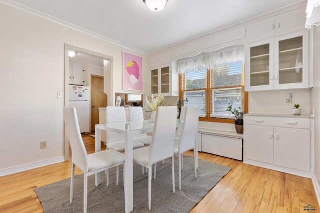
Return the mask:
MULTIPOLYGON (((122 88, 122 51, 147 56, 0 3, 0 175, 5 168, 63 156, 64 44, 113 57, 113 90, 122 88), (47 149, 40 150, 40 141, 47 149), (1 171, 2 170, 2 171, 1 171)), ((127 92, 127 91, 125 91, 127 92)))

